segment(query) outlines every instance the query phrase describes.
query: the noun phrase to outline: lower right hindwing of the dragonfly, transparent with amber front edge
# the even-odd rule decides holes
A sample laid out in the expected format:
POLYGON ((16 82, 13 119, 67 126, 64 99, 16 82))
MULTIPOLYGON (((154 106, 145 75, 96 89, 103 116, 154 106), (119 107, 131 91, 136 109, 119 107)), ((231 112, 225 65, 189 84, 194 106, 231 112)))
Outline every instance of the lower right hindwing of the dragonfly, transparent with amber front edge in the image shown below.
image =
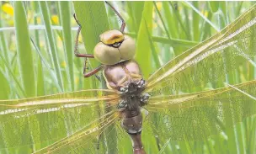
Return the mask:
POLYGON ((256 114, 256 81, 227 88, 170 96, 154 96, 145 132, 173 141, 206 139, 256 114))

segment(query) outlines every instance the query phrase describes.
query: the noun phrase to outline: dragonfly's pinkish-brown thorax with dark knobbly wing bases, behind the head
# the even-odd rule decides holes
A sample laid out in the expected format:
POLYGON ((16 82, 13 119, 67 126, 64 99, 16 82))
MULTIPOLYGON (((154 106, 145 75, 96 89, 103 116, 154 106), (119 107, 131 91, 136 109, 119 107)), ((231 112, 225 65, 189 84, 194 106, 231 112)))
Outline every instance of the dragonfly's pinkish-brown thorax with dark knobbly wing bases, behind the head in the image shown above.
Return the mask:
POLYGON ((122 61, 112 66, 105 66, 104 78, 109 89, 120 92, 119 109, 136 109, 147 102, 148 95, 143 93, 146 82, 140 66, 134 60, 122 61))

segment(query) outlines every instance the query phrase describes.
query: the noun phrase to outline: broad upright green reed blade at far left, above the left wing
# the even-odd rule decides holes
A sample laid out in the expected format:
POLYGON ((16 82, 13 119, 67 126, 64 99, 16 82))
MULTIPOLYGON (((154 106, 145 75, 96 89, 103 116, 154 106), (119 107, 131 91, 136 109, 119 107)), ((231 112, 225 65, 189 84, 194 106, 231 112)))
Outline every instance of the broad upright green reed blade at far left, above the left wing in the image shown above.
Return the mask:
POLYGON ((22 86, 26 97, 33 97, 36 94, 35 68, 29 41, 27 18, 22 2, 14 3, 14 24, 22 86))

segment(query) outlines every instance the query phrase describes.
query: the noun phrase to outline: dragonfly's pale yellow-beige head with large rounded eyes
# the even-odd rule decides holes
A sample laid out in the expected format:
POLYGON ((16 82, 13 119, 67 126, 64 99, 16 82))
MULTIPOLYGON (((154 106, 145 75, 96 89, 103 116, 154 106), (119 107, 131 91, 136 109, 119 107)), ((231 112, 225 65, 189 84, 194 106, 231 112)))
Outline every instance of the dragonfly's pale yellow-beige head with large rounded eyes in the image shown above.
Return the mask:
POLYGON ((102 64, 115 65, 121 61, 131 60, 135 56, 135 41, 119 30, 106 31, 99 35, 99 39, 93 55, 102 64))

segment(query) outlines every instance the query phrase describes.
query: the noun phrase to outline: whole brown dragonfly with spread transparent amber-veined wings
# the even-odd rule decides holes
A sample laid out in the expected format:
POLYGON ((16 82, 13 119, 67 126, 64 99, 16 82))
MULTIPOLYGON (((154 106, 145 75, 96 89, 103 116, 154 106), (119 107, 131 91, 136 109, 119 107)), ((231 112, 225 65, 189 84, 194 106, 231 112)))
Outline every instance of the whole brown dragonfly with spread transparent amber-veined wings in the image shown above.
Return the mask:
POLYGON ((131 152, 146 154, 144 134, 200 141, 256 113, 255 80, 204 90, 256 55, 255 5, 145 80, 133 59, 135 41, 124 35, 125 20, 107 4, 121 19, 120 30, 100 35, 93 55, 79 53, 76 43, 75 55, 101 63, 90 72, 85 65, 83 76, 102 70, 108 89, 0 100, 0 130, 8 130, 0 135, 1 153, 18 147, 29 153, 119 153, 130 138, 131 152))

